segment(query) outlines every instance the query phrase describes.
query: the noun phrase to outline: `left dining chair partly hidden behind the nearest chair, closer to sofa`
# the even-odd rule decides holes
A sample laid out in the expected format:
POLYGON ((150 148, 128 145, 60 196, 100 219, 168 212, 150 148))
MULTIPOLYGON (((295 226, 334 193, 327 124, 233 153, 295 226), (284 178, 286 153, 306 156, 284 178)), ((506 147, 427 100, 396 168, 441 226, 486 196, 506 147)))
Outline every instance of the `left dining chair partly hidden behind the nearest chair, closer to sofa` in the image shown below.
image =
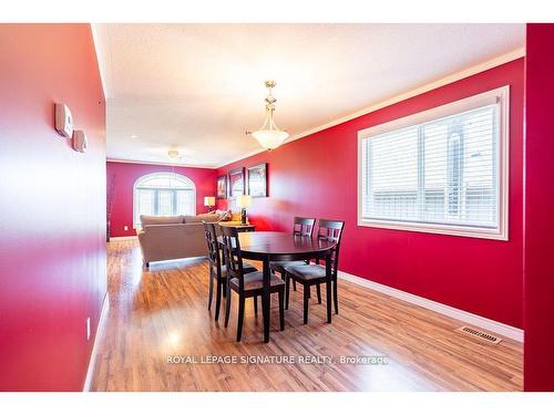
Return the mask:
MULTIPOLYGON (((212 300, 214 298, 214 282, 215 282, 217 286, 216 301, 215 301, 215 320, 217 321, 219 319, 222 293, 223 295, 226 295, 225 288, 227 282, 227 267, 223 261, 223 252, 219 249, 219 243, 217 241, 217 232, 215 227, 216 224, 206 221, 203 221, 203 224, 207 243, 207 259, 209 268, 208 310, 212 310, 212 300)), ((243 270, 245 273, 257 271, 256 267, 247 262, 243 263, 243 270)))

